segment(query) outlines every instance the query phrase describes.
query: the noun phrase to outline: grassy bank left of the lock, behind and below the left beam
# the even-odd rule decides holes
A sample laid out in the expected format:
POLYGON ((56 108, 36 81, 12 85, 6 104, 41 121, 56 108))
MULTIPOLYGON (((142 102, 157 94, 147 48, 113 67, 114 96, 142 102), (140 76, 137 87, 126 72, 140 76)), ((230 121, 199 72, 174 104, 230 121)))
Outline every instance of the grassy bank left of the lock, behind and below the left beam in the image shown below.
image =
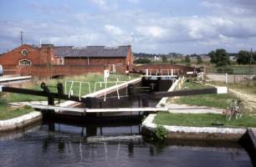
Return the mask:
MULTIPOLYGON (((131 75, 131 79, 137 78, 137 75, 131 75)), ((108 78, 108 81, 116 81, 118 78, 119 81, 127 81, 129 78, 126 75, 123 74, 110 74, 110 78, 108 78)), ((31 83, 23 83, 22 87, 26 89, 37 89, 42 90, 40 88, 40 84, 42 82, 46 83, 48 86, 50 86, 51 92, 57 92, 55 87, 57 83, 65 83, 66 80, 69 81, 84 81, 90 83, 90 90, 88 86, 85 86, 85 84, 82 85, 81 89, 81 95, 89 94, 90 92, 93 93, 95 89, 95 82, 103 81, 103 75, 100 73, 88 73, 86 75, 79 75, 74 77, 67 77, 67 78, 61 78, 61 79, 47 79, 47 80, 33 80, 31 83)), ((71 83, 67 84, 67 94, 69 94, 69 88, 71 83)), ((115 83, 108 83, 106 86, 110 87, 115 85, 115 83)), ((97 84, 96 91, 99 89, 105 89, 105 84, 102 84, 102 87, 100 87, 100 84, 97 84)), ((73 95, 79 95, 79 83, 74 83, 73 85, 73 95)), ((33 111, 33 109, 28 108, 22 108, 22 109, 11 109, 8 108, 8 103, 10 102, 22 102, 22 101, 41 101, 41 100, 47 100, 45 97, 39 97, 39 96, 32 96, 32 95, 26 95, 26 94, 0 94, 0 120, 4 119, 12 119, 14 117, 28 114, 29 112, 33 111)))

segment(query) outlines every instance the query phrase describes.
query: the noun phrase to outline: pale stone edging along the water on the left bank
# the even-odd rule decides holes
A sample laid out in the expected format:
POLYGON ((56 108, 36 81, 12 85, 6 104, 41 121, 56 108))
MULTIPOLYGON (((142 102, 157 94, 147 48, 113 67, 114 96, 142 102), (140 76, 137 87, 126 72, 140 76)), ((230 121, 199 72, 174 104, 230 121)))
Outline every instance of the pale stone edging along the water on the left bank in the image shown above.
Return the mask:
POLYGON ((13 118, 13 119, 1 120, 0 121, 0 132, 21 129, 21 128, 24 128, 25 126, 28 126, 29 124, 33 124, 41 119, 42 119, 41 112, 33 111, 29 114, 24 114, 22 116, 19 116, 19 117, 13 118))

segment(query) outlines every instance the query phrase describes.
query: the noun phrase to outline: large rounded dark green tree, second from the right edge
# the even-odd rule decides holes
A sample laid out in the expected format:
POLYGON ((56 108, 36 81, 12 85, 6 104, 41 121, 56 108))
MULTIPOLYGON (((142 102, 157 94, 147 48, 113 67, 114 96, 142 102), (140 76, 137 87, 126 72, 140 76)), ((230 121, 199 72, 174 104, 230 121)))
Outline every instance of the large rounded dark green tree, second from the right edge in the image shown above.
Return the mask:
POLYGON ((230 64, 228 53, 223 48, 218 48, 216 51, 208 53, 211 58, 211 63, 215 63, 216 67, 226 66, 230 64))

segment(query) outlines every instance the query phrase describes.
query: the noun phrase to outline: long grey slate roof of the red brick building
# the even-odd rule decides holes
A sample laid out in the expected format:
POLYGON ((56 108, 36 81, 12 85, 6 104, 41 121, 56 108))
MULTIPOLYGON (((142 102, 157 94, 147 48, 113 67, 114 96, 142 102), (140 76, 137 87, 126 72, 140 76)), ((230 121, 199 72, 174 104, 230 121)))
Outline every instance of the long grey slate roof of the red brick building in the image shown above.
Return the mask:
POLYGON ((125 58, 129 52, 130 45, 118 47, 87 46, 54 47, 54 55, 66 58, 90 57, 90 58, 125 58))

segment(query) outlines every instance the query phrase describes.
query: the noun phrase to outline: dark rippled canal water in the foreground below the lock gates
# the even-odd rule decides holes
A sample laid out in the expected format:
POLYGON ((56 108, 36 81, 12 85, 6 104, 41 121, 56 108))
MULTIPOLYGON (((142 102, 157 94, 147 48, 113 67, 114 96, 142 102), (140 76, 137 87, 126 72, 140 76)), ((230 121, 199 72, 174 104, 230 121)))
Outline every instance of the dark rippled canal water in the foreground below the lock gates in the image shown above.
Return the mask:
POLYGON ((253 166, 238 143, 144 139, 92 142, 90 136, 141 133, 140 124, 62 124, 44 122, 0 136, 0 166, 253 166))

